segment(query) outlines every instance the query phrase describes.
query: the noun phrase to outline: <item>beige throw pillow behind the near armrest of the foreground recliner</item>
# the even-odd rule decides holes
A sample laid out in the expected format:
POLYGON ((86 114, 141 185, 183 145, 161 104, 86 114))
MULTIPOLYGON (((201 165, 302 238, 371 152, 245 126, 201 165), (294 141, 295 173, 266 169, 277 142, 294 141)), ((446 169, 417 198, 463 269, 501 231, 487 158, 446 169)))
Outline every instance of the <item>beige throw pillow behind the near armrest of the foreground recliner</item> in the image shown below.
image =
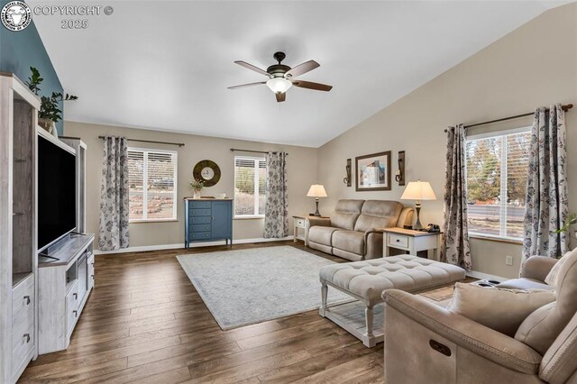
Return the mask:
POLYGON ((554 300, 554 291, 545 289, 486 288, 456 283, 447 309, 513 337, 528 315, 554 300))

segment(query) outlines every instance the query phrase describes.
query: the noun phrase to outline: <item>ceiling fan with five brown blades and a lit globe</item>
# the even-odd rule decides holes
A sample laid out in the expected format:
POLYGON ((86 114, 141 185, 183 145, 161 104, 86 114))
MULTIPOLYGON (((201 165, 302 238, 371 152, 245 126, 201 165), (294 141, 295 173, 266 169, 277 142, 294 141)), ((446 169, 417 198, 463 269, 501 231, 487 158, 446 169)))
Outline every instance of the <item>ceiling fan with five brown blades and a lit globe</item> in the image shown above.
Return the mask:
POLYGON ((280 103, 285 101, 286 92, 290 87, 301 87, 307 89, 315 89, 316 91, 330 91, 333 86, 327 86, 325 84, 313 83, 310 81, 303 81, 294 79, 299 75, 303 75, 313 69, 320 67, 320 64, 315 60, 308 60, 302 64, 299 64, 295 68, 290 68, 288 65, 280 64, 282 60, 285 59, 286 55, 284 52, 276 52, 272 57, 279 62, 279 64, 271 65, 267 70, 260 69, 253 66, 245 61, 234 61, 236 64, 243 66, 244 68, 251 69, 261 75, 267 76, 269 79, 267 81, 260 81, 258 83, 243 84, 241 86, 228 87, 228 89, 237 89, 243 87, 260 86, 261 84, 266 84, 272 92, 277 96, 277 101, 280 103))

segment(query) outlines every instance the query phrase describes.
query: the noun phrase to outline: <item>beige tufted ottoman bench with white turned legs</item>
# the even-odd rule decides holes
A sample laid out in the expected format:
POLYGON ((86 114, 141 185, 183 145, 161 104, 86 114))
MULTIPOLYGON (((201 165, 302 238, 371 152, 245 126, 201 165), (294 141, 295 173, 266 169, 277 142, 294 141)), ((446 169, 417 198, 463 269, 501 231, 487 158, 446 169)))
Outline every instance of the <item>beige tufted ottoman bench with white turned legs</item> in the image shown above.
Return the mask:
MULTIPOLYGON (((412 255, 332 264, 321 268, 322 306, 320 315, 353 334, 367 347, 383 341, 383 330, 373 330, 373 308, 383 302, 383 290, 396 288, 419 292, 451 284, 465 278, 465 270, 455 265, 423 259, 412 255), (327 306, 328 287, 343 291, 364 306, 364 324, 354 323, 355 315, 342 308, 350 304, 327 306), (337 309, 340 308, 340 309, 337 309)), ((358 317, 358 316, 357 316, 358 317)))

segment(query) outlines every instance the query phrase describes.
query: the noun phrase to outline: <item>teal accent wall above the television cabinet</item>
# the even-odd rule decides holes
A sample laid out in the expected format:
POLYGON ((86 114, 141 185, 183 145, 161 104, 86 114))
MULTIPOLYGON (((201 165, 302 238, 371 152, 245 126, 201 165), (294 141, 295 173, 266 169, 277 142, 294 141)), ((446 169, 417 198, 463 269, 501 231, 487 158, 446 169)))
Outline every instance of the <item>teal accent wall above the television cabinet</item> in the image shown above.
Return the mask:
MULTIPOLYGON (((9 0, 0 0, 0 7, 9 0)), ((12 72, 22 81, 31 73, 30 67, 37 68, 44 81, 41 84, 41 95, 50 96, 52 92, 63 92, 58 74, 44 48, 34 22, 19 32, 9 31, 0 24, 0 72, 12 72)), ((60 109, 64 111, 62 105, 60 109)), ((57 123, 58 133, 62 134, 64 124, 57 123)))

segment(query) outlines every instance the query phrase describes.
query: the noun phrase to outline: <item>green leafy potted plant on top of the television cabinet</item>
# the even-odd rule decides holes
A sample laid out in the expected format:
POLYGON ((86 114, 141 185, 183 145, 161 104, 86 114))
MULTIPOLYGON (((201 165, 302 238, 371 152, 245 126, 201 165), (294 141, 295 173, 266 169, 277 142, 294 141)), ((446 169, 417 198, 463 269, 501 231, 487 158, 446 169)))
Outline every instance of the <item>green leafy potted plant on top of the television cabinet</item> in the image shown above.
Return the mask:
MULTIPOLYGON (((28 78, 26 85, 38 96, 40 92, 40 85, 44 80, 41 78, 40 71, 31 67, 32 75, 28 78)), ((66 94, 63 96, 60 92, 52 92, 50 97, 41 96, 41 106, 38 112, 38 125, 44 128, 49 133, 56 135, 56 123, 62 119, 62 111, 60 110, 60 102, 62 101, 74 101, 77 100, 78 96, 66 94)))

